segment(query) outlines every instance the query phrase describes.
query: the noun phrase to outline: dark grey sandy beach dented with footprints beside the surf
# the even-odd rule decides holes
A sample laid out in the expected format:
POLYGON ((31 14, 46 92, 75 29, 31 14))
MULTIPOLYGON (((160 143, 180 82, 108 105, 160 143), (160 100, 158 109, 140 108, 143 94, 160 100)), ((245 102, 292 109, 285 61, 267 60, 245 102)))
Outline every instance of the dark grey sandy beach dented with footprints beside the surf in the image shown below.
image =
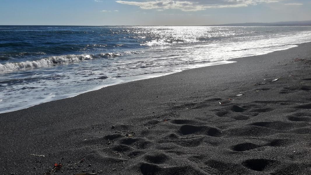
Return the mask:
POLYGON ((310 48, 0 114, 0 174, 311 174, 310 48))

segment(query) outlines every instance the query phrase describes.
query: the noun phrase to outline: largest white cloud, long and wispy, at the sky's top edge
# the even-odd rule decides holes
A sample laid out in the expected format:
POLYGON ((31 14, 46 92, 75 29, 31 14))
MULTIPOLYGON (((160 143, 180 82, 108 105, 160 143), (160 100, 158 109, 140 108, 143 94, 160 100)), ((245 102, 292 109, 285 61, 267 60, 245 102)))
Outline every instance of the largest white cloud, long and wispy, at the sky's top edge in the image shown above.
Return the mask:
POLYGON ((180 9, 185 12, 201 11, 208 8, 247 7, 277 0, 155 0, 147 2, 116 1, 121 4, 139 6, 141 9, 180 9))

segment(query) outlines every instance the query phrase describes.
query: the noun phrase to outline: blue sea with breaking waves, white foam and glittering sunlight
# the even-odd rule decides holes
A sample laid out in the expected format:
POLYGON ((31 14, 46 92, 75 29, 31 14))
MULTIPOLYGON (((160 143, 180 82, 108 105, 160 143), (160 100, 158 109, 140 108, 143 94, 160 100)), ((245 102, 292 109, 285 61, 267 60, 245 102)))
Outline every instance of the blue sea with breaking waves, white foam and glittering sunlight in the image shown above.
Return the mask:
POLYGON ((0 113, 310 41, 310 26, 0 26, 0 113))

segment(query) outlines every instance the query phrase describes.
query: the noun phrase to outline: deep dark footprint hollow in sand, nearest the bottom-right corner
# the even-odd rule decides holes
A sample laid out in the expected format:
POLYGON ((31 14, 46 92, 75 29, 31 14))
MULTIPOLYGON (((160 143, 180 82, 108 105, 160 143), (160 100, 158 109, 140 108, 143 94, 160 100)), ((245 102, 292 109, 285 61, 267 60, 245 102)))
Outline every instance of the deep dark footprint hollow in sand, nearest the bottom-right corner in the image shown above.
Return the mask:
POLYGON ((270 160, 270 159, 248 159, 242 162, 242 165, 244 165, 246 168, 254 170, 254 171, 263 171, 272 163, 274 163, 275 160, 270 160))

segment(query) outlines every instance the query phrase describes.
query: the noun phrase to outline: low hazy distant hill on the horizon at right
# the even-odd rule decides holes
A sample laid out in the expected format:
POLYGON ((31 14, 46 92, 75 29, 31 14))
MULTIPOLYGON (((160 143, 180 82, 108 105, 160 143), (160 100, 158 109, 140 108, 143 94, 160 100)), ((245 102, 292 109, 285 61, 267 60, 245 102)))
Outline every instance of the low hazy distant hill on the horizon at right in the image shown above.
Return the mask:
POLYGON ((204 26, 311 26, 311 21, 282 21, 282 22, 248 22, 248 23, 234 23, 234 24, 218 24, 218 25, 204 25, 204 26))

